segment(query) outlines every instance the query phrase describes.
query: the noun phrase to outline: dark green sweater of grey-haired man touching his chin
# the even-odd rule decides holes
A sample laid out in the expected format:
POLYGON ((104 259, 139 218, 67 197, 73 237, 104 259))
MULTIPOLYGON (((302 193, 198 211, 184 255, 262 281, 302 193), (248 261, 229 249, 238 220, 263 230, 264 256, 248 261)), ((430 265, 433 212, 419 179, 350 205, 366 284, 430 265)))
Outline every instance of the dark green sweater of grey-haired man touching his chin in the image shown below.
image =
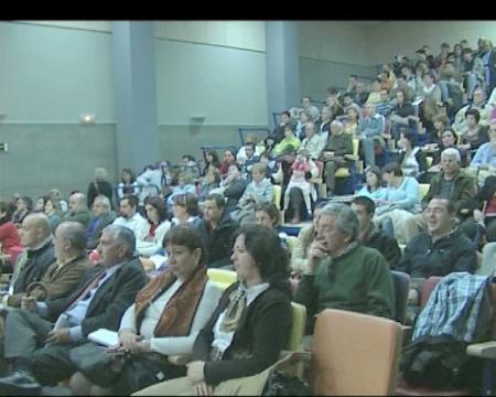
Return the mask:
POLYGON ((392 318, 395 290, 389 265, 374 248, 356 245, 338 257, 323 258, 314 275, 304 275, 294 300, 309 311, 308 332, 314 315, 324 309, 349 310, 392 318))

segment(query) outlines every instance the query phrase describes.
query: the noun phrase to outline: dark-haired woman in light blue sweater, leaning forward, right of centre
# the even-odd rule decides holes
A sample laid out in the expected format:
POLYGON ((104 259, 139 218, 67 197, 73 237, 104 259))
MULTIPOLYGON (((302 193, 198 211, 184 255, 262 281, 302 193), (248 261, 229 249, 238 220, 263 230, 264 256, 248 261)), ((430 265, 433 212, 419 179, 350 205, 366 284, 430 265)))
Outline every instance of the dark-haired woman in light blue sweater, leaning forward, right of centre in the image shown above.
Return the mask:
POLYGON ((405 243, 405 223, 420 212, 419 182, 412 176, 403 176, 398 163, 386 164, 382 179, 388 185, 377 200, 374 222, 389 236, 405 243))

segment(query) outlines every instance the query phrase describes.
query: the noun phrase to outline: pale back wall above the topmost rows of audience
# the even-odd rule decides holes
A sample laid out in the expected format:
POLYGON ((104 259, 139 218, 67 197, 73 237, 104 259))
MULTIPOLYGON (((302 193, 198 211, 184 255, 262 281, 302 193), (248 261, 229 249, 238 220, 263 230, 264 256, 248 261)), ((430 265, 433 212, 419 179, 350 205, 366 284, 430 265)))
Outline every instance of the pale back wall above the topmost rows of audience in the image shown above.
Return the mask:
POLYGON ((366 26, 370 63, 392 62, 397 54, 414 58, 416 50, 428 44, 433 54, 440 53, 441 43, 452 47, 462 39, 468 40, 472 49, 477 39, 485 36, 496 44, 496 21, 390 21, 366 26))

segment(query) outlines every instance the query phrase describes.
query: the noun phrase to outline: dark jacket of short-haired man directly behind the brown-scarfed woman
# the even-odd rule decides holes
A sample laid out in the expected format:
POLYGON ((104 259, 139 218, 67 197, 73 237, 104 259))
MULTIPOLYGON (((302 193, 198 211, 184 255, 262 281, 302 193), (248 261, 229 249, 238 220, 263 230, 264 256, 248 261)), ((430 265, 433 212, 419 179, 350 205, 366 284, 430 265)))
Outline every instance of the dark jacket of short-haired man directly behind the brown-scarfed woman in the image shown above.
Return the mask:
POLYGON ((207 249, 207 267, 223 267, 230 264, 230 255, 234 246, 234 233, 238 228, 238 223, 230 218, 227 210, 224 210, 223 217, 215 229, 202 218, 197 230, 207 249))

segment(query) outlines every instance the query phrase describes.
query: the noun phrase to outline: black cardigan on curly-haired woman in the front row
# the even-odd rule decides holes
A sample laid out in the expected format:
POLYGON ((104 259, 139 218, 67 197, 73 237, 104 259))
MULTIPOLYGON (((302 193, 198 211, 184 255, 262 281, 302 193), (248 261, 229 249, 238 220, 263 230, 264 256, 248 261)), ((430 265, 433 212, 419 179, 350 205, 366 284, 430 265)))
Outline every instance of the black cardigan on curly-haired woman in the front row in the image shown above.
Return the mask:
POLYGON ((288 294, 269 287, 246 309, 235 331, 230 346, 222 360, 209 361, 213 329, 219 314, 229 303, 229 293, 238 288, 230 286, 208 323, 200 332, 193 346, 194 360, 205 362, 205 380, 208 385, 261 373, 279 358, 291 331, 291 301, 288 294))

